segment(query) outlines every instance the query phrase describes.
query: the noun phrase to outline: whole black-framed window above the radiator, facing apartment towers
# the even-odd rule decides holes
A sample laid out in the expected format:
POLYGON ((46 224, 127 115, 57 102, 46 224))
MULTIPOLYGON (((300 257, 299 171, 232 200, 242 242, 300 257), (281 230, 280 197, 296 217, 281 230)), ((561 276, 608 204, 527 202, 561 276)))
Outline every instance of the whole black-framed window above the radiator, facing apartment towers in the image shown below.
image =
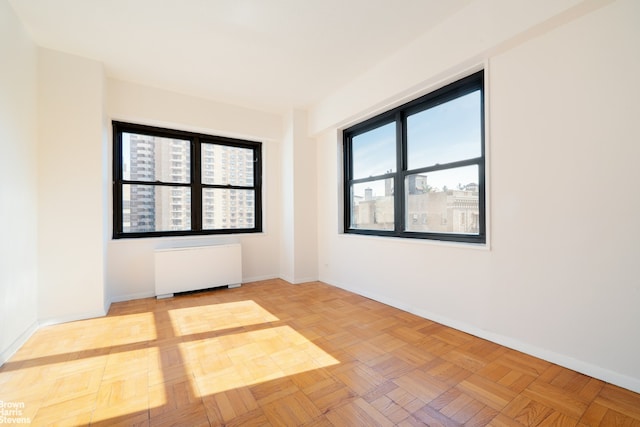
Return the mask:
POLYGON ((115 121, 113 142, 114 238, 262 231, 261 143, 115 121))

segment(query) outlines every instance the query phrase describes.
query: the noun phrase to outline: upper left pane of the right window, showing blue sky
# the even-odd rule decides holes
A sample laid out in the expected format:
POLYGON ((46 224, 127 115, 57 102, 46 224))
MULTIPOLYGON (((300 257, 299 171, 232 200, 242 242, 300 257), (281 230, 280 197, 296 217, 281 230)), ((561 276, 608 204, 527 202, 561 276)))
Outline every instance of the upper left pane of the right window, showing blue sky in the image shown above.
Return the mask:
POLYGON ((396 170, 396 124, 389 123, 353 137, 353 178, 368 178, 396 170))

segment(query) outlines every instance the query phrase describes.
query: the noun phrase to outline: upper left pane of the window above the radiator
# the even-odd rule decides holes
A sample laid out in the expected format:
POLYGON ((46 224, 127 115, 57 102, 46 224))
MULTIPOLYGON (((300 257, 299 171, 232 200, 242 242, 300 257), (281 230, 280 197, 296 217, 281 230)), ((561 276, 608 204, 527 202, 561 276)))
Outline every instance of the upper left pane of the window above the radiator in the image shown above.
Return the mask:
POLYGON ((122 133, 122 176, 132 181, 189 183, 190 142, 122 133))

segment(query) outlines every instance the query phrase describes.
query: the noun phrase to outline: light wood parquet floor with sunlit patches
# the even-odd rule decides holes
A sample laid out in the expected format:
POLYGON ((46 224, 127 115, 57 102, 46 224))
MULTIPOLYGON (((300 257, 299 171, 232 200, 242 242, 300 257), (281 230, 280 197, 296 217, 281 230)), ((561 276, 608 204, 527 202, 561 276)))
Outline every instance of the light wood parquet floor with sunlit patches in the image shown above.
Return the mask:
POLYGON ((0 400, 33 425, 640 426, 638 394, 280 280, 43 328, 0 368, 0 400))

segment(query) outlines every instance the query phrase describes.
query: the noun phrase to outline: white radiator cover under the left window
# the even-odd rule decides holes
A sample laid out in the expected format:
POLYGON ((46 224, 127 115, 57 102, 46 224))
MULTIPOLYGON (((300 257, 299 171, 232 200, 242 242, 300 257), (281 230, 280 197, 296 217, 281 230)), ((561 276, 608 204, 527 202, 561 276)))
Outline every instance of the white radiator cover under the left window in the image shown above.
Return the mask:
POLYGON ((240 244, 157 249, 154 255, 158 298, 242 283, 240 244))

